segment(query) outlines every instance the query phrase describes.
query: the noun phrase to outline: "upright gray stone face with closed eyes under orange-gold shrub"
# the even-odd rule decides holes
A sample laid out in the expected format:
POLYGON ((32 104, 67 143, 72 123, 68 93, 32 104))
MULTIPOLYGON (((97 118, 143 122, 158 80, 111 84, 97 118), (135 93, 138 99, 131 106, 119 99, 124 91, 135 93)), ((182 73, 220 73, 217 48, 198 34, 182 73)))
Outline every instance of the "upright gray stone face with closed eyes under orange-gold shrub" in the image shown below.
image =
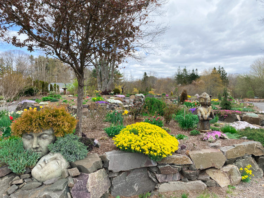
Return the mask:
POLYGON ((40 157, 47 155, 48 145, 56 141, 52 128, 43 130, 40 133, 23 133, 22 141, 26 150, 39 153, 40 157))

